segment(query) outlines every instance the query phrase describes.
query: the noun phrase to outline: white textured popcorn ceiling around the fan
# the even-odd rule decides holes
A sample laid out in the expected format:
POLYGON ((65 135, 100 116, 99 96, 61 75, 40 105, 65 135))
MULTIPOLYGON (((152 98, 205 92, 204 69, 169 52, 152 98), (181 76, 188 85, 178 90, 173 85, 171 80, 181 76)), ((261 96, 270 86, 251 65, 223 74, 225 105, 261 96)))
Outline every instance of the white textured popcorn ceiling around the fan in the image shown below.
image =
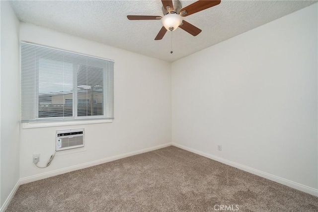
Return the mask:
MULTIPOLYGON (((194 2, 180 1, 182 7, 194 2)), ((223 0, 184 17, 202 29, 196 37, 178 28, 159 41, 154 39, 162 26, 160 20, 128 20, 126 16, 162 15, 160 0, 36 0, 11 1, 11 5, 20 21, 172 62, 315 2, 223 0)))

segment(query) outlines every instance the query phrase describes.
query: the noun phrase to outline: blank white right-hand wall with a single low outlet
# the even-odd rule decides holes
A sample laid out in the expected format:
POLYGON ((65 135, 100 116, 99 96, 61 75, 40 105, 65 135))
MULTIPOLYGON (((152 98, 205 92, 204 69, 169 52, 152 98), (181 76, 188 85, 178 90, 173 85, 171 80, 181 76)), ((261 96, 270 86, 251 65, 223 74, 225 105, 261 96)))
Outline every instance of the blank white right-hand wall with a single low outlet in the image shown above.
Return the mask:
POLYGON ((316 3, 174 62, 172 142, 317 192, 317 20, 316 3))

